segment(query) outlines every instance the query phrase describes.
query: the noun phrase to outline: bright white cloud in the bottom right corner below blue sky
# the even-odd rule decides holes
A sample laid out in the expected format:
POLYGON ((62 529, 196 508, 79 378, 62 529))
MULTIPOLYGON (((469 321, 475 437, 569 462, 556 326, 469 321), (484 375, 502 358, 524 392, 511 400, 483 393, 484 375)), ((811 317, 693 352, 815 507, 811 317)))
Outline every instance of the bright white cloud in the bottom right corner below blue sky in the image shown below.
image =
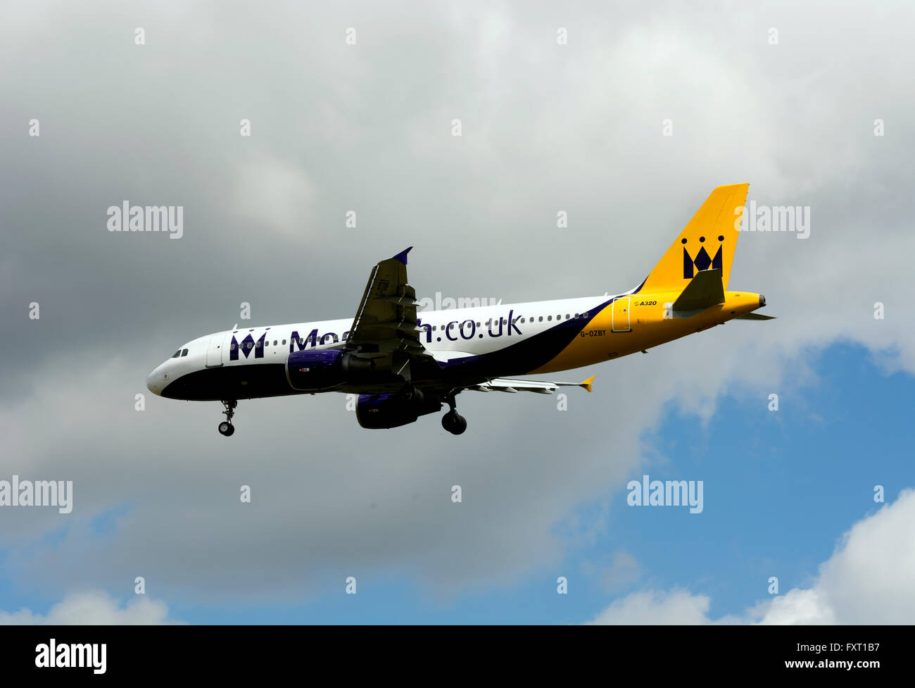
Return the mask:
POLYGON ((793 588, 742 617, 708 617, 710 598, 646 590, 616 600, 597 624, 909 624, 915 618, 915 490, 856 522, 807 588, 793 588))

